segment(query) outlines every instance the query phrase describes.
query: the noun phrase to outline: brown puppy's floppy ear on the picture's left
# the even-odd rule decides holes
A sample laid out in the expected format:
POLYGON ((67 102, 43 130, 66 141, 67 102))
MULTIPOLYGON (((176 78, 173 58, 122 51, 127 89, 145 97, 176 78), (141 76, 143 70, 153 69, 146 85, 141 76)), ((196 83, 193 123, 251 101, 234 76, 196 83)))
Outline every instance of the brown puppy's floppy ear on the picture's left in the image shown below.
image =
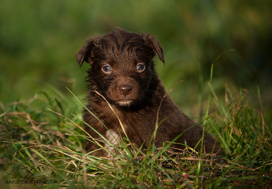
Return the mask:
POLYGON ((94 36, 86 40, 85 45, 81 47, 76 53, 76 61, 79 64, 79 67, 82 66, 83 62, 92 63, 91 56, 94 50, 99 46, 100 36, 94 36))

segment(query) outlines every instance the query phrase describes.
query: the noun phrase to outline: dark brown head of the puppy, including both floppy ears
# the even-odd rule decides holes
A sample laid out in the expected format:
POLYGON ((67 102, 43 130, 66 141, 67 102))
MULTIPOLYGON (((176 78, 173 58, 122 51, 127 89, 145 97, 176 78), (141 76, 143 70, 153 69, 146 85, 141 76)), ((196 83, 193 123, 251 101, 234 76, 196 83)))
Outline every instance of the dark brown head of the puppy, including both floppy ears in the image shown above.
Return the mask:
POLYGON ((76 60, 79 67, 91 64, 90 82, 111 104, 127 107, 148 102, 156 75, 155 54, 164 62, 163 48, 153 36, 117 29, 89 38, 76 60))

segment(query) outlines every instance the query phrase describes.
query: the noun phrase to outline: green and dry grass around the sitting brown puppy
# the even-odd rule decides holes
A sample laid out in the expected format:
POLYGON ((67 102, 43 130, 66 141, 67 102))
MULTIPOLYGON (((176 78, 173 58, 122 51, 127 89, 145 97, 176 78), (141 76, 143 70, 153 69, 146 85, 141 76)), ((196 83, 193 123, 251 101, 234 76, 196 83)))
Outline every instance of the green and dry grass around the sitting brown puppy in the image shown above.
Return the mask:
POLYGON ((262 111, 248 103, 248 91, 234 95, 227 86, 225 91, 221 101, 210 85, 202 115, 201 122, 221 144, 222 152, 213 155, 197 153, 194 146, 176 153, 167 143, 128 148, 124 140, 113 146, 119 155, 94 157, 84 151, 89 136, 81 120, 84 105, 76 96, 40 93, 26 102, 1 104, 1 181, 11 188, 5 182, 14 178, 7 172, 18 178, 21 170, 36 180, 57 181, 28 185, 33 188, 269 188, 272 135, 262 111))

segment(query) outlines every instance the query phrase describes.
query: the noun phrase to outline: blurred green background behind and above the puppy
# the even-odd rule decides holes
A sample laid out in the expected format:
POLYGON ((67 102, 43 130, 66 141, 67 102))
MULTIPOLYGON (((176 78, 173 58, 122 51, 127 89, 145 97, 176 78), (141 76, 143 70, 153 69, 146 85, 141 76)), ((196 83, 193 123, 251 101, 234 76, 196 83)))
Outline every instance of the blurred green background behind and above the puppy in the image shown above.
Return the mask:
MULTIPOLYGON (((86 92, 89 65, 79 69, 75 54, 94 34, 115 27, 157 36, 165 66, 156 69, 173 100, 189 116, 198 116, 207 100, 211 63, 212 87, 224 100, 225 85, 237 95, 249 91, 271 120, 272 1, 15 1, 0 2, 0 102, 28 100, 38 92, 86 92)), ((81 110, 80 110, 81 111, 81 110)), ((271 124, 269 124, 271 126, 271 124)))

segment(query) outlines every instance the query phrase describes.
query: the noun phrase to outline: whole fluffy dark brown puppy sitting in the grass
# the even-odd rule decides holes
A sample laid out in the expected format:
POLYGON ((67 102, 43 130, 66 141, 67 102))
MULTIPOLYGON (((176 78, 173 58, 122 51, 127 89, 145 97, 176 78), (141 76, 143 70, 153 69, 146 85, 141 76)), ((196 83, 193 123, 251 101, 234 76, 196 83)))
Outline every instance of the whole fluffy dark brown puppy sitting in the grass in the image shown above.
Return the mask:
MULTIPOLYGON (((162 146, 163 142, 172 141, 194 125, 193 121, 184 115, 166 94, 152 61, 156 54, 164 62, 163 48, 153 36, 144 33, 138 35, 122 29, 89 38, 76 53, 79 67, 83 62, 91 64, 91 68, 87 71, 87 78, 91 84, 86 107, 105 124, 108 130, 86 109, 84 109, 84 121, 115 145, 127 135, 135 146, 140 147, 143 144, 143 148, 147 148, 155 129, 157 112, 158 123, 163 121, 153 140, 157 147, 162 146), (119 117, 125 133, 105 99, 95 91, 109 102, 119 117)), ((93 138, 103 140, 89 126, 86 125, 85 129, 93 138)), ((187 145, 193 148, 202 137, 202 130, 202 127, 196 125, 183 133, 175 142, 184 144, 186 141, 187 145)), ((206 133, 204 142, 206 152, 211 152, 215 140, 206 133)), ((172 146, 185 148, 184 145, 179 144, 172 146)), ((97 144, 87 141, 87 151, 98 148, 97 144)), ((200 144, 196 150, 199 149, 200 144)), ((98 150, 92 155, 106 154, 98 150)))

